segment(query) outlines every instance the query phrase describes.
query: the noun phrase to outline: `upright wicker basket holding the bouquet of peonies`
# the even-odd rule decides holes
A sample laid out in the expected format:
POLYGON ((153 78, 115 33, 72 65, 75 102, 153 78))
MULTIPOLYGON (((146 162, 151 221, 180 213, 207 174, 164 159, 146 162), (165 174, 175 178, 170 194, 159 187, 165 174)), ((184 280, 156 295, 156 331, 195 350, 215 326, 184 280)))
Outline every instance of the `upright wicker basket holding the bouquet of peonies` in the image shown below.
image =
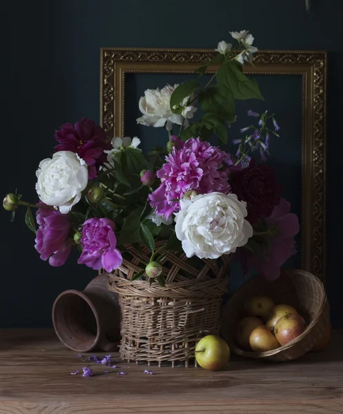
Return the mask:
MULTIPOLYGON (((164 242, 161 242, 163 245, 164 242)), ((158 246, 157 246, 158 247, 158 246)), ((228 290, 229 258, 204 260, 202 269, 190 266, 184 253, 168 253, 163 262, 166 287, 157 282, 130 279, 150 252, 133 246, 108 288, 119 294, 121 308, 121 357, 128 362, 195 363, 195 346, 208 333, 219 333, 222 295, 228 290), (192 277, 192 279, 190 279, 192 277)))

